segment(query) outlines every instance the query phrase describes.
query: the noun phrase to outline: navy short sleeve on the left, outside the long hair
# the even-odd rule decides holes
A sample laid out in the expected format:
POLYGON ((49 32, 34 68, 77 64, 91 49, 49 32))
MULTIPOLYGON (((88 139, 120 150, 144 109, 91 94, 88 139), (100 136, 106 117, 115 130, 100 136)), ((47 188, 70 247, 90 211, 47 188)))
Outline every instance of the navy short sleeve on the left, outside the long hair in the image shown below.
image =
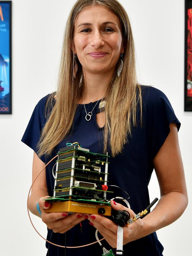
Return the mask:
MULTIPOLYGON (((33 110, 30 121, 27 125, 25 133, 21 139, 23 143, 32 148, 37 153, 37 144, 40 139, 41 131, 45 125, 45 104, 48 96, 42 98, 33 110)), ((45 163, 45 156, 42 155, 40 159, 45 163)))

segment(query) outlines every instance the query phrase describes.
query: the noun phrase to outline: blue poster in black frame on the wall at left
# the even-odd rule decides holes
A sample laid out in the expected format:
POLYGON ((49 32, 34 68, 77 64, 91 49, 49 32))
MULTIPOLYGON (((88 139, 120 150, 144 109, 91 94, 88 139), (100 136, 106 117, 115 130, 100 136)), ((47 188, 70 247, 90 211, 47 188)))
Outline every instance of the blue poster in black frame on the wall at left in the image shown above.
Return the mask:
POLYGON ((0 114, 12 114, 12 1, 0 1, 0 114))

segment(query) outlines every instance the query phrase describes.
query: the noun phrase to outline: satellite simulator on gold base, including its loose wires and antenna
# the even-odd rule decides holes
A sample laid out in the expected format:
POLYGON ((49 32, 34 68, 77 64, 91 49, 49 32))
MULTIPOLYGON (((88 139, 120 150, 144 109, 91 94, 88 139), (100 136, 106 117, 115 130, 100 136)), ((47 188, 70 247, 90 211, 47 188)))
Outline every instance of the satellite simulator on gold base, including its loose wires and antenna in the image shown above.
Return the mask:
MULTIPOLYGON (((123 192, 125 192, 128 198, 114 197, 108 201, 106 199, 106 193, 113 193, 108 191, 107 186, 107 176, 108 176, 108 154, 102 155, 97 153, 89 152, 88 149, 81 148, 81 145, 78 142, 69 143, 65 148, 60 149, 58 154, 54 156, 40 171, 45 169, 45 167, 56 157, 56 175, 54 175, 54 167, 52 169, 52 174, 55 179, 54 184, 54 196, 48 197, 45 201, 51 202, 51 207, 46 209, 45 212, 79 212, 79 213, 89 213, 89 214, 101 214, 105 215, 107 218, 110 218, 118 225, 117 231, 117 255, 123 255, 123 226, 133 223, 138 218, 144 216, 149 212, 149 209, 157 202, 157 198, 146 207, 145 210, 138 213, 133 218, 130 218, 130 214, 127 210, 116 210, 111 211, 111 200, 123 200, 127 207, 130 208, 130 205, 126 199, 129 198, 127 192, 116 185, 108 185, 110 187, 118 187, 123 192), (97 166, 97 165, 98 166, 97 166), (105 171, 102 171, 101 165, 105 164, 105 171), (103 184, 104 183, 104 184, 103 184), (100 197, 99 197, 100 196, 100 197), (109 216, 109 217, 108 217, 109 216)), ((29 209, 28 209, 28 200, 31 188, 35 182, 34 179, 30 187, 28 197, 27 197, 27 212, 30 218, 29 209)), ((32 223, 32 220, 30 218, 32 223)), ((35 229, 35 226, 32 223, 32 226, 35 229)), ((81 230, 82 225, 80 223, 81 230)), ((35 229, 38 233, 38 231, 35 229)), ((97 242, 101 245, 103 249, 103 256, 114 256, 112 250, 107 250, 102 246, 100 240, 97 236, 97 231, 95 236, 97 242)), ((39 233, 38 233, 39 234, 39 233)), ((39 234, 40 235, 40 234, 39 234)), ((41 236, 41 235, 40 235, 41 236)), ((45 239, 43 236, 41 236, 45 239)), ((45 239, 46 240, 46 239, 45 239)), ((102 239, 101 239, 102 240, 102 239)), ((65 247, 58 244, 54 244, 48 240, 47 242, 59 246, 65 247)), ((87 244, 85 246, 88 246, 87 244)), ((76 248, 76 247, 66 247, 66 248, 76 248)))

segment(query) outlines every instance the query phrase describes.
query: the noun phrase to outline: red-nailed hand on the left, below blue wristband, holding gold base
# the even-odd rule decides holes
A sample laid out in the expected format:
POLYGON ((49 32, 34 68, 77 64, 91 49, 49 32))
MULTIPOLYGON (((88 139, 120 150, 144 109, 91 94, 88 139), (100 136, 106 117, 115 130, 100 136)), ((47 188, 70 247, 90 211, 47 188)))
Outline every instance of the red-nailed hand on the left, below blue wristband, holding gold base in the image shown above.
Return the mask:
POLYGON ((48 196, 41 197, 39 207, 41 210, 42 221, 47 225, 48 229, 52 229, 54 233, 65 233, 73 228, 79 222, 84 221, 85 217, 82 213, 69 214, 67 212, 45 213, 46 209, 51 207, 51 203, 44 201, 48 196))

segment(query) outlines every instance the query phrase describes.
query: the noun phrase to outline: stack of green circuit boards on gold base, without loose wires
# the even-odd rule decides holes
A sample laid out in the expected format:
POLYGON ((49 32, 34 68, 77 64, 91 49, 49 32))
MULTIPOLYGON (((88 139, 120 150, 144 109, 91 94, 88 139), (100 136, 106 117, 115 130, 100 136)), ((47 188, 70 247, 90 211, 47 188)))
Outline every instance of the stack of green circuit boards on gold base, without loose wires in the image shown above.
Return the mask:
MULTIPOLYGON (((108 191, 107 186, 108 157, 92 153, 78 145, 61 148, 56 162, 53 197, 47 199, 52 203, 52 207, 47 212, 81 212, 78 207, 81 206, 81 210, 86 207, 95 208, 92 213, 110 215, 110 210, 106 213, 110 205, 106 195, 112 193, 108 191)), ((86 212, 90 213, 90 210, 85 210, 84 213, 86 212)))

